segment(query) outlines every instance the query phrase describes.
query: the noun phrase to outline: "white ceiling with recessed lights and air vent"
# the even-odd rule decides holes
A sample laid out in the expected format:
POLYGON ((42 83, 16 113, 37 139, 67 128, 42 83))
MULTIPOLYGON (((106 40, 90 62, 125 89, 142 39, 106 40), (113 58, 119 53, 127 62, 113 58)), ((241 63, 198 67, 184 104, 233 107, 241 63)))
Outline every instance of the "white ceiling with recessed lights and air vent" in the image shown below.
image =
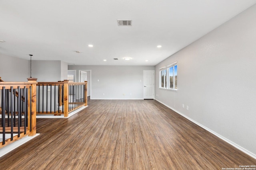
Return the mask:
POLYGON ((0 53, 77 65, 156 65, 255 3, 0 0, 0 40, 6 41, 0 53), (132 26, 118 26, 118 19, 132 20, 132 26))

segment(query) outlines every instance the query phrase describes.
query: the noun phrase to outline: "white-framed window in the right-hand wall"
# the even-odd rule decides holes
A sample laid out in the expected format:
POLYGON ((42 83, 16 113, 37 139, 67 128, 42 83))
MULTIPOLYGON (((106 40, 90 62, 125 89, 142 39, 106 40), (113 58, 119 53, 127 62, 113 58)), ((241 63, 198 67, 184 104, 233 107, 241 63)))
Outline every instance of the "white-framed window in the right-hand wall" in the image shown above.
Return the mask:
POLYGON ((160 68, 160 88, 177 90, 177 61, 160 68))

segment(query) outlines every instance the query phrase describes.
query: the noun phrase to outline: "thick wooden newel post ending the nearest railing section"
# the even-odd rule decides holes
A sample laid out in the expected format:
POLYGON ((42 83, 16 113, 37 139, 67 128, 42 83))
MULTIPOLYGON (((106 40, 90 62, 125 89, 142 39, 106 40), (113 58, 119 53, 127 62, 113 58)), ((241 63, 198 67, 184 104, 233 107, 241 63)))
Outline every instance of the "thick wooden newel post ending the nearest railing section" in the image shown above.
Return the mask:
POLYGON ((31 92, 30 90, 28 90, 29 98, 31 96, 31 100, 28 100, 28 129, 30 129, 30 124, 31 124, 31 131, 28 136, 36 135, 36 84, 37 84, 36 80, 37 78, 28 78, 28 82, 31 83, 31 92), (31 107, 31 117, 30 117, 30 107, 31 107))

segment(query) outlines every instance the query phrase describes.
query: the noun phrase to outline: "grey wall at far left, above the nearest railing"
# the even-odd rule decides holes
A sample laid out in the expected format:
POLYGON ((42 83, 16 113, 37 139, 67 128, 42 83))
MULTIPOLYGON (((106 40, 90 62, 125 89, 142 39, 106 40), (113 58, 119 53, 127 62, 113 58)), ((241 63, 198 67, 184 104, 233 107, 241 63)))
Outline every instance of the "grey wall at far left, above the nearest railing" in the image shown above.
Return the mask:
POLYGON ((0 54, 0 77, 5 82, 27 82, 30 61, 0 54))

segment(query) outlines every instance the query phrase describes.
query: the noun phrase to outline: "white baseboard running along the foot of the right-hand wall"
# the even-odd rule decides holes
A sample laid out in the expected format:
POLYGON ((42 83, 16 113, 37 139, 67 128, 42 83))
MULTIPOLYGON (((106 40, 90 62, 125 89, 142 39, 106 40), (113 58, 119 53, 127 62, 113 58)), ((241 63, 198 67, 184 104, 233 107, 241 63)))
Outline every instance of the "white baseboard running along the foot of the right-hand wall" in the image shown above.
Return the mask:
POLYGON ((216 137, 218 137, 218 138, 222 139, 223 141, 229 143, 229 144, 232 145, 233 147, 236 147, 237 149, 241 150, 242 152, 244 152, 244 153, 248 154, 249 156, 251 156, 252 158, 256 159, 256 154, 250 152, 249 150, 244 149, 243 147, 237 145, 236 143, 230 141, 229 139, 226 139, 225 137, 223 137, 223 136, 219 135, 218 133, 212 131, 211 129, 208 129, 208 128, 205 127, 204 125, 201 125, 200 123, 194 121, 194 120, 191 119, 190 117, 187 117, 186 115, 180 113, 179 111, 175 110, 174 108, 172 108, 172 107, 170 107, 170 106, 164 104, 163 102, 160 102, 160 101, 157 100, 157 99, 155 99, 155 100, 158 101, 159 103, 163 104, 164 106, 166 106, 166 107, 172 109, 172 110, 175 111, 176 113, 182 115, 182 116, 185 117, 186 119, 192 121, 192 122, 195 123, 196 125, 198 125, 198 126, 204 128, 206 131, 212 133, 212 134, 215 135, 216 137))

